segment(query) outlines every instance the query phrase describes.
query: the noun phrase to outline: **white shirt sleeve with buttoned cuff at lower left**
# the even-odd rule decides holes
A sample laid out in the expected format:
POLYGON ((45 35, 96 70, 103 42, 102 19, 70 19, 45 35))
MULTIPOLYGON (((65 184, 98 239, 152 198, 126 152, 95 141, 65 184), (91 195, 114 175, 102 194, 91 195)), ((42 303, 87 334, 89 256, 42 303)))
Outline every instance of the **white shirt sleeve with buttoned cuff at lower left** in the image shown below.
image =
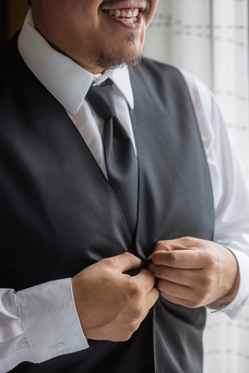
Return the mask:
POLYGON ((0 289, 0 373, 88 347, 70 278, 19 292, 0 289))

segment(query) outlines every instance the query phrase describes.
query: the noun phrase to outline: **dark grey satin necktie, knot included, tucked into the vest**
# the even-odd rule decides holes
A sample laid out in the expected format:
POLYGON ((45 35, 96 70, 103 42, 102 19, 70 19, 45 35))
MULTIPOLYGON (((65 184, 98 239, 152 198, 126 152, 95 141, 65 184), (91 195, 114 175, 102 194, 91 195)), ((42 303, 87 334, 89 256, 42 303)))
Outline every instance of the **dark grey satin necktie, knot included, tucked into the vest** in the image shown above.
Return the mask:
POLYGON ((130 136, 116 116, 112 82, 108 79, 100 86, 91 86, 86 97, 95 112, 104 119, 108 181, 133 236, 138 212, 138 160, 130 136))

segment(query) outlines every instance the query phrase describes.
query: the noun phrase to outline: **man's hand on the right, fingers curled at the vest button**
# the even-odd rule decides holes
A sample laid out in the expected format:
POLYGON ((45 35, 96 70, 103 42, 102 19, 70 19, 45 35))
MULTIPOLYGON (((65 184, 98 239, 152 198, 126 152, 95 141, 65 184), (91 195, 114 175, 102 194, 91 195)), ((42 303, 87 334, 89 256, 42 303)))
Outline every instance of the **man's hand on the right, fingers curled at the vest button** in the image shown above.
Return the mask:
POLYGON ((237 261, 215 242, 191 237, 158 241, 151 260, 161 296, 173 303, 221 309, 238 292, 237 261))

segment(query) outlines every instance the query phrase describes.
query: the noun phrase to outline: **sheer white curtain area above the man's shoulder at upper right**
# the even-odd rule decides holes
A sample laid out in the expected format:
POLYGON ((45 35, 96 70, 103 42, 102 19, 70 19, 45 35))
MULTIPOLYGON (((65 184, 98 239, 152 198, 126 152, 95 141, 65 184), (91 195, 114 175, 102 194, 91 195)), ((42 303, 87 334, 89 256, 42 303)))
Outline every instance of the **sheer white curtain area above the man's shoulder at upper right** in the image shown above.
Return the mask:
POLYGON ((212 89, 249 176, 248 0, 161 1, 144 55, 212 89))

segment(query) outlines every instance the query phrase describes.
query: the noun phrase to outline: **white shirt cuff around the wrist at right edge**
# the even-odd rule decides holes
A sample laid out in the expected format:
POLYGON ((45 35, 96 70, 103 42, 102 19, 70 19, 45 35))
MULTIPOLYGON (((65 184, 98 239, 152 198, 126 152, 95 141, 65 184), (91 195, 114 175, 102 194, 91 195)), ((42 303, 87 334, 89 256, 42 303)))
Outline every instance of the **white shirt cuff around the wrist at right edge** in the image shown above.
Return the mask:
POLYGON ((230 250, 237 258, 240 285, 238 293, 233 302, 226 308, 222 309, 220 312, 226 313, 230 318, 236 318, 244 309, 244 305, 247 303, 249 297, 249 256, 239 250, 234 250, 230 248, 228 248, 228 250, 230 250))

